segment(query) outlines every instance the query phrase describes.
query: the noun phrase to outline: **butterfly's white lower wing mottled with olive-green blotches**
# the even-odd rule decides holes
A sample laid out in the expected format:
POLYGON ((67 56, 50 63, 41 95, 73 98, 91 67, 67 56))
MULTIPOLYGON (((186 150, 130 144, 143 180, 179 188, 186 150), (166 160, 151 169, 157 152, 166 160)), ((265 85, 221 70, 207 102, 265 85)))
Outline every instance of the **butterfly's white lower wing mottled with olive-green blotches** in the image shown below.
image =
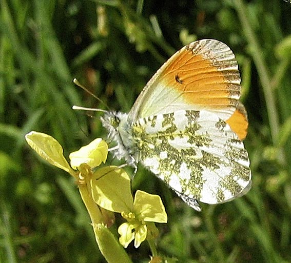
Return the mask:
POLYGON ((250 187, 249 159, 236 133, 210 111, 175 111, 132 126, 139 161, 186 203, 218 204, 250 187))

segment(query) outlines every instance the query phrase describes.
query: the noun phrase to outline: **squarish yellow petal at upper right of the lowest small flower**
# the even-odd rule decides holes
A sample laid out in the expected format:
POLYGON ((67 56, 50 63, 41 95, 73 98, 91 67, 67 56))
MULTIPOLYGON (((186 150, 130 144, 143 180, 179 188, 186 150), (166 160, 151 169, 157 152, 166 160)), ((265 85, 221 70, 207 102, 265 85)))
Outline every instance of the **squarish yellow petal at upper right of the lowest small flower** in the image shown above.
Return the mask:
POLYGON ((168 216, 159 195, 138 190, 133 203, 135 214, 148 222, 166 223, 168 216))

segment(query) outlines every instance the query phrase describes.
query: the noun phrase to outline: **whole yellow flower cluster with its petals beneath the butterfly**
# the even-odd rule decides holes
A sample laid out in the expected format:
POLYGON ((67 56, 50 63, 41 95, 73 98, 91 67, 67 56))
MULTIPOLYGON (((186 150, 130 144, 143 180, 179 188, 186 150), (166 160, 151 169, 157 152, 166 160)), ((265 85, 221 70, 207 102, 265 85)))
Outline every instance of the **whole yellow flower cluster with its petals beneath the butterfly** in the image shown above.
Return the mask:
MULTIPOLYGON (((53 137, 39 132, 25 136, 27 143, 38 155, 53 166, 59 167, 76 178, 82 199, 91 217, 95 236, 102 228, 113 224, 112 212, 121 213, 126 219, 118 228, 120 243, 126 248, 132 240, 138 248, 146 239, 154 238, 154 222, 167 222, 167 214, 160 196, 138 190, 131 194, 128 174, 117 166, 96 167, 105 163, 108 146, 101 138, 69 155, 70 165, 63 155, 63 148, 53 137)), ((99 237, 96 236, 96 240, 99 237)))

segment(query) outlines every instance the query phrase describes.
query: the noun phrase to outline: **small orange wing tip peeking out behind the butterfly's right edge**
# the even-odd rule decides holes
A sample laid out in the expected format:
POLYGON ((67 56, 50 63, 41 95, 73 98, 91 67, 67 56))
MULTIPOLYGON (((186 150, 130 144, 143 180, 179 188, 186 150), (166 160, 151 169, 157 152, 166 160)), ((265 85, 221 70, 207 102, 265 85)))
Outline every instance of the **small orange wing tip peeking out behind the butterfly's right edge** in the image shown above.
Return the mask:
POLYGON ((247 134, 247 114, 242 103, 239 103, 235 113, 226 120, 226 123, 230 126, 231 130, 234 131, 240 140, 243 140, 247 134))

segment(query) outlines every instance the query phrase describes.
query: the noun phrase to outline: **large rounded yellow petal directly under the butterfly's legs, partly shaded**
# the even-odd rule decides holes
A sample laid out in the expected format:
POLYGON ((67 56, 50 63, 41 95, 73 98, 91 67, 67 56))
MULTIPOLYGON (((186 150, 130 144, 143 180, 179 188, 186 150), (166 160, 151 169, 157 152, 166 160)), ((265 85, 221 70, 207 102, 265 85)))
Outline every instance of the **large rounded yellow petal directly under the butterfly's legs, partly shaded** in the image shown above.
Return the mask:
POLYGON ((117 213, 132 211, 130 178, 123 169, 116 166, 98 169, 91 178, 91 189, 99 206, 117 213))

